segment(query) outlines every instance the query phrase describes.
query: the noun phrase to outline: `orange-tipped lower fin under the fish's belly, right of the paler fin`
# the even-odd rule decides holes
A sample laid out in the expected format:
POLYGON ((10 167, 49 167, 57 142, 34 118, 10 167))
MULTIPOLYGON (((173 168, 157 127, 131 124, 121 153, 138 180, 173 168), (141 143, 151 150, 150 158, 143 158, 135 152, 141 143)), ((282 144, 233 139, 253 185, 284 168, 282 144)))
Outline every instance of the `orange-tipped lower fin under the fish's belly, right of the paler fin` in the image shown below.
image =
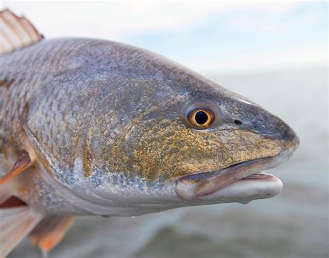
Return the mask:
POLYGON ((42 251, 49 251, 60 243, 73 223, 74 216, 46 217, 29 235, 31 243, 38 245, 42 251))

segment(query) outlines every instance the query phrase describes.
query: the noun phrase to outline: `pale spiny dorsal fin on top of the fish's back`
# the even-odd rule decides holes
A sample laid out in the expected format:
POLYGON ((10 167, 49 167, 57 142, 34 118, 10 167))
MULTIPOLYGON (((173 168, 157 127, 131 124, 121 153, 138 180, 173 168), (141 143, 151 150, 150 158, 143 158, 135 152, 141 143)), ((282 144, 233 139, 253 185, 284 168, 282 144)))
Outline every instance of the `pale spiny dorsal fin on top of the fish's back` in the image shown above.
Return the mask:
POLYGON ((18 17, 8 9, 0 11, 0 55, 33 45, 42 38, 24 16, 18 17))

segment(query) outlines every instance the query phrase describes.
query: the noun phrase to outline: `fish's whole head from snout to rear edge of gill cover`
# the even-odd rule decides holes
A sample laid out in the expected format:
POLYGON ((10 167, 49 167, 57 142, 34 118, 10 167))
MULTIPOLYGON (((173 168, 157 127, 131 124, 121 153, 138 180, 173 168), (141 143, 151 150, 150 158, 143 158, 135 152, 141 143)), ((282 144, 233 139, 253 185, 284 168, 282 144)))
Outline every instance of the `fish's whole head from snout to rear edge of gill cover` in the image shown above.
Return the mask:
POLYGON ((65 58, 74 70, 39 90, 24 129, 40 177, 74 209, 135 216, 280 192, 280 179, 260 172, 289 159, 299 140, 276 115, 119 43, 65 58))

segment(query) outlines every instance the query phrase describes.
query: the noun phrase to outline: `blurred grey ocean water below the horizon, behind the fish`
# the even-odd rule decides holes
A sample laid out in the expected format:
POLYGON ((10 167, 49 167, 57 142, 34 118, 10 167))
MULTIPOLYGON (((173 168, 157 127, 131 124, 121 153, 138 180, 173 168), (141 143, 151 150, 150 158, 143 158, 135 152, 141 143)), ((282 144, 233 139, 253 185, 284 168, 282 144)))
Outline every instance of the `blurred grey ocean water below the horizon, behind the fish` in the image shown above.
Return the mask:
MULTIPOLYGON (((269 171, 284 184, 278 196, 137 218, 78 218, 50 257, 329 257, 327 69, 210 74, 278 115, 299 136, 292 159, 269 171)), ((9 257, 41 255, 26 239, 9 257)))

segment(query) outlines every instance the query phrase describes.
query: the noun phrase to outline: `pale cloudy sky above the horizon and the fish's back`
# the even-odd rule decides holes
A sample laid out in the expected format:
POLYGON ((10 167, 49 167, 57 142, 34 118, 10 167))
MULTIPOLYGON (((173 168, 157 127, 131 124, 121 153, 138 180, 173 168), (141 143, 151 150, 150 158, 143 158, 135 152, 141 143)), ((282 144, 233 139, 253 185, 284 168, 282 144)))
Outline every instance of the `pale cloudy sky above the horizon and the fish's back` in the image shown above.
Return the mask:
POLYGON ((45 38, 103 38, 206 74, 328 65, 328 3, 1 1, 45 38))

